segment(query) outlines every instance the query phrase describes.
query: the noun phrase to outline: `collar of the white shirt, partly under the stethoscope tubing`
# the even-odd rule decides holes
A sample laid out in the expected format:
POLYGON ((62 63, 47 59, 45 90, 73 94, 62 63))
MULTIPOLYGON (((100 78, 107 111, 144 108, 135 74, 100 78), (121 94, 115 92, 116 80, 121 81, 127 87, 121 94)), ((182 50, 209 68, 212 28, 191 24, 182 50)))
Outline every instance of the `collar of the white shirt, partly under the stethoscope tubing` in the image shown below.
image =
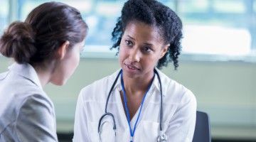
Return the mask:
MULTIPOLYGON (((122 69, 119 69, 119 70, 117 70, 116 72, 114 72, 112 74, 112 82, 114 82, 114 80, 116 79, 116 77, 117 77, 118 73, 120 72, 120 70, 122 70, 122 69)), ((160 76, 161 84, 162 84, 163 96, 165 96, 166 93, 164 93, 164 90, 166 88, 166 85, 164 85, 164 82, 163 82, 164 81, 163 80, 163 75, 162 75, 163 73, 159 69, 157 69, 157 68, 156 68, 156 71, 159 72, 159 76, 160 76)), ((151 87, 155 87, 159 91, 159 95, 160 95, 160 83, 159 83, 159 80, 158 80, 156 75, 154 76, 154 80, 152 82, 152 86, 151 87)), ((121 76, 119 76, 119 78, 117 80, 117 83, 114 85, 114 89, 118 89, 119 91, 122 90, 121 76)))

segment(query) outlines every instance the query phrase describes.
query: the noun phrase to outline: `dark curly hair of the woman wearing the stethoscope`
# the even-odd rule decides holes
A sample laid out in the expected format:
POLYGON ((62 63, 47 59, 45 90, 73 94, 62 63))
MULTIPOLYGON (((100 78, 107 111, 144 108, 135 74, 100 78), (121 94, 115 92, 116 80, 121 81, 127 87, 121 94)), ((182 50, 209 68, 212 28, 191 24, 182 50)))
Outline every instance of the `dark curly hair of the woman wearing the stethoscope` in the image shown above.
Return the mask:
POLYGON ((155 0, 129 0, 122 8, 122 15, 117 18, 112 31, 112 48, 119 50, 122 35, 127 24, 131 21, 141 21, 159 28, 159 34, 166 45, 170 44, 167 53, 161 58, 157 67, 161 69, 168 62, 174 62, 174 69, 178 67, 178 55, 181 52, 182 22, 169 7, 155 0))

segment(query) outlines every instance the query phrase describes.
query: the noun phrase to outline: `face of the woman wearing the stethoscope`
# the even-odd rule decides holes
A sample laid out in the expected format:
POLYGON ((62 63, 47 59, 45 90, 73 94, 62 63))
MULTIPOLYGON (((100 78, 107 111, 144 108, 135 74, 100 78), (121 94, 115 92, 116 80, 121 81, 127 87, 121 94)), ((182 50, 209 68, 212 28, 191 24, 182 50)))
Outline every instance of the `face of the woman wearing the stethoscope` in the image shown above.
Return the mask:
POLYGON ((128 23, 119 48, 123 74, 132 78, 153 75, 156 63, 167 50, 158 28, 139 21, 128 23))

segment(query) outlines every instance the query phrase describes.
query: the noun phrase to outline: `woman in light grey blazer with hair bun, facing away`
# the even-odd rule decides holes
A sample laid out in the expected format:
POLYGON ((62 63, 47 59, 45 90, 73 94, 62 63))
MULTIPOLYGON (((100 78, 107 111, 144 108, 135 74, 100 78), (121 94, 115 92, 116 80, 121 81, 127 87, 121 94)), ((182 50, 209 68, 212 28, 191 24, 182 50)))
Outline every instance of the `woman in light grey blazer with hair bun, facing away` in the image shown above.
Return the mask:
POLYGON ((62 85, 80 60, 87 24, 80 12, 49 2, 14 22, 0 39, 0 53, 15 63, 0 74, 0 141, 58 141, 53 102, 43 92, 62 85))

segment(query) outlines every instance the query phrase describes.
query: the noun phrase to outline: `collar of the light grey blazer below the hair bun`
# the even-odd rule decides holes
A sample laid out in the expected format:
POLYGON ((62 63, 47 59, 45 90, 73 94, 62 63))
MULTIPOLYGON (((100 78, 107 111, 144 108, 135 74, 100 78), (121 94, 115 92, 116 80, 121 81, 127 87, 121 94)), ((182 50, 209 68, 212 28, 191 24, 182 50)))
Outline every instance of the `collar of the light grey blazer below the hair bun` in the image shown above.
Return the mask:
POLYGON ((16 72, 18 75, 21 75, 22 77, 27 78, 28 80, 31 80, 33 83, 35 83, 38 87, 42 89, 41 82, 38 78, 38 75, 36 73, 36 70, 32 67, 32 65, 28 63, 14 63, 13 65, 8 67, 9 70, 16 72))

